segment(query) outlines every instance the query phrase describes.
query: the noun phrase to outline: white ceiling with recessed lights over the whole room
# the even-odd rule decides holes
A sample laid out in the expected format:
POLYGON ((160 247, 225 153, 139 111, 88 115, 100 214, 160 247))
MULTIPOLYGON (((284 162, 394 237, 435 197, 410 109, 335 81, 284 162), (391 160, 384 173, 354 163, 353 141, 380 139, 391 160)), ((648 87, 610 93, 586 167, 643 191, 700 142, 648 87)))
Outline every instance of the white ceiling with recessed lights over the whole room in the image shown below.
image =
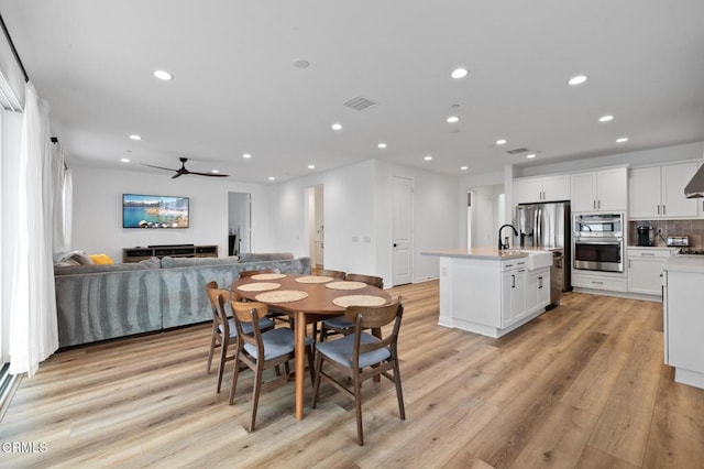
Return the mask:
POLYGON ((129 157, 167 177, 140 163, 187 156, 266 183, 367 159, 462 175, 704 140, 702 0, 0 0, 0 13, 69 163, 129 157), (458 66, 470 75, 452 79, 458 66), (568 86, 576 74, 588 80, 568 86), (343 106, 358 96, 377 105, 343 106))

